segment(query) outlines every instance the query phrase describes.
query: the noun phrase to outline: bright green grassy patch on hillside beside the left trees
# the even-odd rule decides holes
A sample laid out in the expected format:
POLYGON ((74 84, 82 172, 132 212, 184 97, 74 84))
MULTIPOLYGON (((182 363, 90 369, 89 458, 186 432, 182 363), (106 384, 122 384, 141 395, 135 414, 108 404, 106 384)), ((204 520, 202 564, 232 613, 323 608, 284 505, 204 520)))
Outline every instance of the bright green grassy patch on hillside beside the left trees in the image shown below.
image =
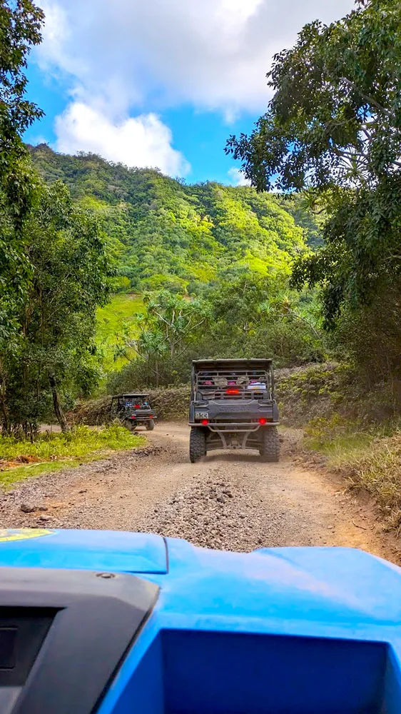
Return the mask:
POLYGON ((121 333, 123 323, 135 321, 138 314, 145 310, 143 299, 138 295, 117 293, 111 301, 96 313, 96 342, 103 349, 103 367, 105 371, 121 369, 127 363, 125 358, 114 359, 116 336, 121 333))

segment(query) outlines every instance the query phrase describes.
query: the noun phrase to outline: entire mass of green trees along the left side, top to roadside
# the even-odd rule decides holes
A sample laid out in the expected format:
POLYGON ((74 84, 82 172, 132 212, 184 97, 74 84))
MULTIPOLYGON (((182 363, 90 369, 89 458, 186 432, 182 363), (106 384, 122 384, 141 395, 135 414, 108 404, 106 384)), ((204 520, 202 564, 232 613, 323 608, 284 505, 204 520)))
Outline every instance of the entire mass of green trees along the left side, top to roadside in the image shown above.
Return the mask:
POLYGON ((26 99, 26 65, 44 14, 30 0, 0 2, 0 421, 33 434, 98 380, 96 308, 111 276, 100 224, 50 186, 22 134, 41 110, 26 99))

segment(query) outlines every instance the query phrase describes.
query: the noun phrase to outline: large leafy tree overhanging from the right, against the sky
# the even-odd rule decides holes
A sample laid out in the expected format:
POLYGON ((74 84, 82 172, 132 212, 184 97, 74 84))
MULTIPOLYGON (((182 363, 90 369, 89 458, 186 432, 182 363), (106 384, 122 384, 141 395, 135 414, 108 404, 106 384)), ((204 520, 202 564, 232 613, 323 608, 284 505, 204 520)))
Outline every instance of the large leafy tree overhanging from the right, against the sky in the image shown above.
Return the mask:
POLYGON ((305 26, 268 76, 267 113, 226 151, 259 190, 307 189, 327 212, 327 246, 298 262, 294 282, 322 286, 333 327, 343 305, 400 280, 400 3, 358 0, 330 26, 305 26))

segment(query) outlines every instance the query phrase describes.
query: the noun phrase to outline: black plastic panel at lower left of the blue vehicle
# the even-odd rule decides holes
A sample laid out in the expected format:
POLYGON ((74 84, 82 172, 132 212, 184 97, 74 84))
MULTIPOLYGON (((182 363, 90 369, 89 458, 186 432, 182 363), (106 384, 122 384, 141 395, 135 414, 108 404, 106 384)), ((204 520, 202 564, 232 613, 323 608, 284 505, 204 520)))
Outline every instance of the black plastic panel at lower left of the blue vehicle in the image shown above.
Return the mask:
POLYGON ((1 568, 1 714, 90 714, 158 586, 121 573, 1 568))

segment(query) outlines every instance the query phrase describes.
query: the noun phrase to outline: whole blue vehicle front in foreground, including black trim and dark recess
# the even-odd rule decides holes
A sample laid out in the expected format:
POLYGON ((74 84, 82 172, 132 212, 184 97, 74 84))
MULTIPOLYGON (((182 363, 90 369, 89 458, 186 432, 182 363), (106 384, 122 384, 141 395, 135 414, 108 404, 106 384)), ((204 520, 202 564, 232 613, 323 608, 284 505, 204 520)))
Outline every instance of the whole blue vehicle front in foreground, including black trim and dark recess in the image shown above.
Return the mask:
POLYGON ((400 714, 401 568, 352 548, 0 531, 0 710, 400 714))

